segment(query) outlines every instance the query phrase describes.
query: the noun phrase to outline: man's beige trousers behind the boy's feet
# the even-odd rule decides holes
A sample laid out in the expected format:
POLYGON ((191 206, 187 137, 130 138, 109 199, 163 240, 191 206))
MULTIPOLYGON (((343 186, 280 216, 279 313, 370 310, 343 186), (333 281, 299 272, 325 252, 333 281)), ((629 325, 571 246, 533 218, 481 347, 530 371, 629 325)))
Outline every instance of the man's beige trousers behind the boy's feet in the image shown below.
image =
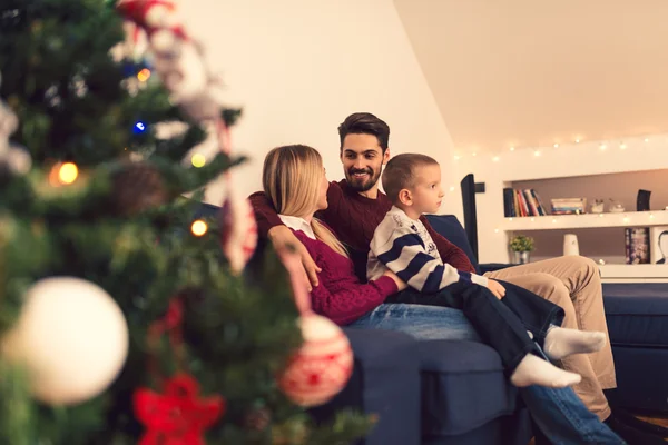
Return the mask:
MULTIPOLYGON (((599 330, 608 335, 599 269, 591 259, 559 257, 485 276, 521 286, 561 306, 566 313, 562 327, 599 330)), ((617 386, 609 337, 602 350, 571 355, 562 359, 560 366, 582 376, 582 382, 573 386, 576 394, 601 421, 608 418, 610 406, 602 389, 617 386)))

